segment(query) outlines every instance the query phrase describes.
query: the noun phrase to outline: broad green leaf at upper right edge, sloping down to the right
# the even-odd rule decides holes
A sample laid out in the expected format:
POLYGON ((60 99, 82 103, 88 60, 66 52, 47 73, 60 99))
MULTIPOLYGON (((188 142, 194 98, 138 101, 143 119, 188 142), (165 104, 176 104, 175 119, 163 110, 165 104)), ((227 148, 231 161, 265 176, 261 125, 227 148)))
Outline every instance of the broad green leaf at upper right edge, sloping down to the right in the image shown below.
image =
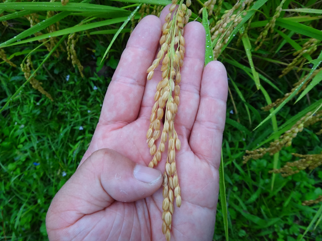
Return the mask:
POLYGON ((280 26, 284 29, 288 29, 291 31, 294 31, 296 33, 308 36, 310 38, 322 40, 322 32, 314 29, 312 27, 300 24, 300 23, 294 23, 289 20, 285 19, 277 19, 276 20, 276 25, 280 26))

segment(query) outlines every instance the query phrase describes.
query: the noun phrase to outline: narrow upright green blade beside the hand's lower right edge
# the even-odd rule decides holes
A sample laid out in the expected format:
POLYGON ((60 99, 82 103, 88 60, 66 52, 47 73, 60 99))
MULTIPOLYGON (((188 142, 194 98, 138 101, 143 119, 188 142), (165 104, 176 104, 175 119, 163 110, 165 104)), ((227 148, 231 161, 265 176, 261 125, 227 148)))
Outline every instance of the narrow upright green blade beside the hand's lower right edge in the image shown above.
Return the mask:
POLYGON ((225 228, 226 241, 228 241, 228 214, 227 214, 227 201, 226 201, 226 188, 225 188, 225 176, 223 171, 223 156, 221 148, 221 160, 219 166, 219 192, 220 192, 220 202, 221 210, 223 216, 223 224, 225 228))

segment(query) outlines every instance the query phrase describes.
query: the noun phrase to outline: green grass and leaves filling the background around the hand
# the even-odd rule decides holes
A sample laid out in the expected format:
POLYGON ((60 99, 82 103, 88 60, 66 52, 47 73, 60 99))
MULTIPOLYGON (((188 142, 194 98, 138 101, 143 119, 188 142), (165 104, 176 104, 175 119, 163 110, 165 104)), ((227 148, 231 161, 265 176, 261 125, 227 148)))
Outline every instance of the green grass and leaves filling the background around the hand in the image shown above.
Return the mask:
MULTIPOLYGON (((0 47, 4 47, 8 58, 17 66, 39 47, 41 43, 37 40, 57 36, 66 49, 63 36, 74 31, 80 36, 75 49, 84 65, 83 79, 67 61, 67 53, 60 46, 57 46, 59 58, 49 56, 44 46, 31 53, 34 68, 39 67, 36 78, 52 95, 53 102, 26 82, 19 67, 0 61, 0 109, 3 109, 0 111, 0 240, 46 240, 47 209, 55 193, 74 173, 91 141, 108 83, 132 27, 128 16, 139 4, 166 5, 169 1, 133 0, 127 1, 129 4, 103 1, 104 8, 90 1, 83 4, 70 1, 73 9, 63 9, 58 2, 7 2, 14 7, 0 4, 4 14, 0 19, 9 24, 9 27, 0 27, 0 47), (46 11, 55 6, 66 11, 46 20, 46 11), (38 12, 40 25, 30 28, 23 17, 28 11, 38 12), (56 21, 60 23, 60 30, 48 33, 46 27, 56 21), (38 31, 44 35, 35 37, 33 34, 38 31), (104 64, 100 65, 107 52, 104 64)), ((202 16, 198 16, 201 5, 198 1, 192 2, 193 19, 190 20, 201 22, 202 16)), ((224 1, 220 16, 234 3, 224 1)), ((322 145, 315 133, 321 123, 305 128, 292 146, 274 156, 267 154, 243 165, 246 150, 268 147, 307 111, 314 111, 322 103, 319 72, 302 94, 294 94, 270 112, 261 109, 290 92, 292 84, 312 69, 321 67, 322 45, 318 42, 313 53, 303 55, 306 63, 302 70, 297 72, 295 67, 278 78, 293 60, 293 53, 305 42, 312 37, 322 40, 319 17, 322 4, 316 0, 287 0, 274 32, 269 32, 263 46, 255 51, 257 37, 279 4, 277 0, 259 0, 252 5, 231 32, 218 59, 226 66, 231 96, 228 96, 222 143, 224 182, 221 182, 214 240, 225 240, 229 236, 230 240, 294 241, 300 240, 303 234, 302 240, 322 240, 321 203, 301 205, 304 200, 322 195, 321 168, 286 178, 269 173, 273 168, 297 160, 291 153, 320 153, 322 145), (250 28, 236 45, 250 20, 250 28), (222 200, 224 196, 226 201, 222 200), (224 203, 227 213, 224 205, 221 207, 224 203)), ((136 13, 134 19, 139 17, 136 13)), ((215 20, 213 17, 208 20, 209 23, 204 15, 203 25, 210 24, 211 28, 215 20)), ((210 41, 209 36, 207 40, 210 41)), ((216 40, 208 46, 215 44, 216 40)), ((209 47, 207 55, 211 55, 209 47)))

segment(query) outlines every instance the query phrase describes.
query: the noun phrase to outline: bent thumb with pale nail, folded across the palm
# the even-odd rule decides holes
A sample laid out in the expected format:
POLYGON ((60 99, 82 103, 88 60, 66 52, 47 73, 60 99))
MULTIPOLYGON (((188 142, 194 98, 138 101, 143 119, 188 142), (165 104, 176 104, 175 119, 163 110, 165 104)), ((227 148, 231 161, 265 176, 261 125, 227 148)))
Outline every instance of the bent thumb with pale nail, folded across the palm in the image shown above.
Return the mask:
POLYGON ((160 171, 138 165, 116 151, 98 150, 55 195, 47 212, 47 229, 72 225, 84 215, 104 210, 114 200, 143 199, 161 184, 160 171))

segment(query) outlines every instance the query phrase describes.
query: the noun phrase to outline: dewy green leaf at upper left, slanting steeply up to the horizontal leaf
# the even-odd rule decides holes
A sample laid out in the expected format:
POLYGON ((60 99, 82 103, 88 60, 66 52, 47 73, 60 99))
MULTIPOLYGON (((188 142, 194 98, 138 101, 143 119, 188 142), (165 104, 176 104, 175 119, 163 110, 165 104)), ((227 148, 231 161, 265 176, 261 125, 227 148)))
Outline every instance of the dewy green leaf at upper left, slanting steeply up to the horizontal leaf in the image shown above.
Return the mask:
MULTIPOLYGON (((22 32, 22 33, 18 34, 17 36, 13 37, 12 39, 10 39, 8 41, 5 41, 4 43, 0 44, 0 48, 11 46, 10 45, 11 43, 14 43, 16 41, 20 41, 21 39, 24 39, 26 37, 29 37, 30 35, 33 35, 33 34, 39 32, 39 31, 43 30, 43 29, 46 29, 48 26, 50 26, 50 25, 62 20, 63 18, 67 17, 68 15, 69 15, 69 12, 62 12, 62 13, 56 14, 55 16, 53 16, 53 17, 51 17, 49 19, 46 19, 43 22, 40 22, 40 23, 36 24, 32 28, 27 29, 24 32, 22 32)), ((44 35, 41 35, 41 36, 38 36, 36 38, 44 39, 43 36, 44 35)), ((23 42, 24 41, 21 41, 21 42, 15 43, 15 44, 21 44, 23 42)), ((28 43, 28 42, 31 42, 31 41, 26 41, 24 43, 28 43)), ((13 45, 15 45, 15 44, 13 44, 13 45)))

